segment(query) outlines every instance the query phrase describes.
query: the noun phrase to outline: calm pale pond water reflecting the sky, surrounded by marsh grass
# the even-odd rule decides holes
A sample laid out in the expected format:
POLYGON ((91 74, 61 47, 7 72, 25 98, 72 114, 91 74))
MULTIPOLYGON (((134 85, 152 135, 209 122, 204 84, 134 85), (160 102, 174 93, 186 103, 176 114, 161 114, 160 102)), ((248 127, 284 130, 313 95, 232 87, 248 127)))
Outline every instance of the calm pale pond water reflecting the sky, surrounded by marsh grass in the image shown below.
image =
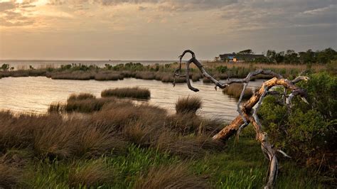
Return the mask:
MULTIPOLYGON (((250 82, 249 87, 260 87, 262 80, 250 82)), ((100 97, 102 90, 114 87, 146 87, 151 90, 150 104, 174 112, 178 97, 197 95, 203 99, 201 116, 233 119, 237 116, 237 101, 221 90, 215 91, 214 85, 194 82, 200 92, 188 90, 186 84, 173 87, 171 83, 156 80, 137 80, 133 78, 118 81, 95 80, 51 80, 47 77, 5 77, 0 79, 0 109, 13 112, 45 113, 52 102, 65 102, 73 92, 90 92, 100 97)))

